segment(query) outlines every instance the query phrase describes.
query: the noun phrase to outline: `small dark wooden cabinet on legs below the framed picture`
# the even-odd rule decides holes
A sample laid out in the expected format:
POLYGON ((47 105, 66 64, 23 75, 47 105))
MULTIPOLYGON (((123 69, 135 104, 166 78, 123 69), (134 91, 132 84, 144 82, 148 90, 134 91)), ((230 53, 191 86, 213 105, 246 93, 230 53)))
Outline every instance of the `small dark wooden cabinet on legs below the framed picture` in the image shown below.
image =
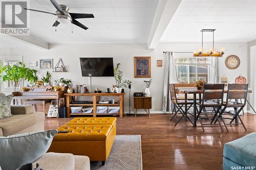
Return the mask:
POLYGON ((137 116, 138 109, 146 109, 148 116, 150 116, 150 109, 152 109, 151 96, 133 97, 133 101, 134 101, 134 109, 136 109, 135 117, 137 116))

